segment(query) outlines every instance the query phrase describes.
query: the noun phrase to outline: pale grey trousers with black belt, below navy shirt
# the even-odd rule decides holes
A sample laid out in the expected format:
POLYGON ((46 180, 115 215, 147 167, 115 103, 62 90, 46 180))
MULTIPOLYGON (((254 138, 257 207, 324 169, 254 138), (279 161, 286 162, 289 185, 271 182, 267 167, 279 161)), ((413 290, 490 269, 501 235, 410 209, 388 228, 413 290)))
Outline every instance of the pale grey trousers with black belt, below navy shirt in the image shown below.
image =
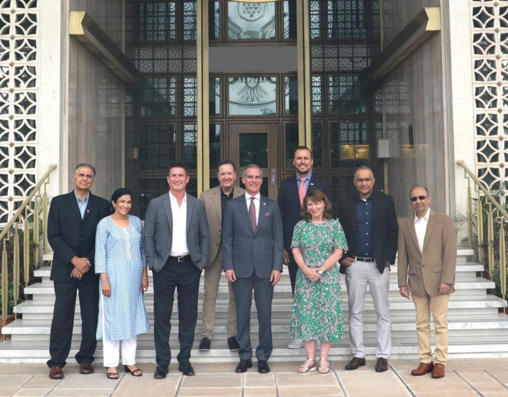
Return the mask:
POLYGON ((390 272, 388 268, 385 268, 383 273, 380 273, 375 262, 355 260, 350 267, 346 267, 351 354, 353 354, 353 357, 365 357, 363 308, 365 306, 367 285, 370 289, 377 316, 376 357, 388 359, 392 348, 392 323, 388 301, 390 272))

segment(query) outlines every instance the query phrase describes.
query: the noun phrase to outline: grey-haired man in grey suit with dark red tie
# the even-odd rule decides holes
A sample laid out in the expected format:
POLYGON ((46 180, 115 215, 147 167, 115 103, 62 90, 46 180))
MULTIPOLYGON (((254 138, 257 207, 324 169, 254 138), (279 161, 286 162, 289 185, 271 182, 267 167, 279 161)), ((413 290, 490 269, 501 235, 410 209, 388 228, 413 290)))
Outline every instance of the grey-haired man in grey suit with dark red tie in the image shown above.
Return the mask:
POLYGON ((252 367, 250 308, 252 289, 258 310, 259 345, 256 348, 258 372, 270 372, 272 353, 273 286, 280 280, 284 238, 277 203, 260 195, 263 173, 259 166, 243 171, 245 195, 227 205, 223 223, 223 254, 226 278, 233 283, 236 300, 240 363, 237 373, 252 367))

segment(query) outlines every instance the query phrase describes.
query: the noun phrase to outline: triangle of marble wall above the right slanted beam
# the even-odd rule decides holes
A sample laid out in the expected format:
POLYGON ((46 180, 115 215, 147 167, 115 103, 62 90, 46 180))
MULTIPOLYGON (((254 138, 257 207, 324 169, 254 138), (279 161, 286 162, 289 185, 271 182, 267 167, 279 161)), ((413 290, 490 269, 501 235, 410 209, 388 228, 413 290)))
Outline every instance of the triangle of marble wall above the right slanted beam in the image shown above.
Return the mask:
POLYGON ((440 0, 383 0, 383 45, 389 44, 423 8, 439 7, 439 2, 440 0))

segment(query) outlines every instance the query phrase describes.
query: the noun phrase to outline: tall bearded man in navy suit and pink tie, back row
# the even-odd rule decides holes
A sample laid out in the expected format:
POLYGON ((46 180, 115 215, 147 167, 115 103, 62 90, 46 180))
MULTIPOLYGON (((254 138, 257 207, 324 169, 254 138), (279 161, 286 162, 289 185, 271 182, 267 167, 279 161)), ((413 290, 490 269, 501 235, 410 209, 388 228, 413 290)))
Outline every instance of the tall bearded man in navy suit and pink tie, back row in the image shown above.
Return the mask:
MULTIPOLYGON (((330 185, 326 180, 312 174, 312 164, 312 152, 310 149, 307 146, 298 146, 295 151, 295 158, 293 159, 296 176, 290 176, 282 181, 277 197, 284 228, 284 263, 288 265, 293 295, 295 294, 298 265, 291 252, 291 240, 293 239, 295 225, 302 219, 300 210, 303 205, 303 197, 305 197, 309 189, 320 189, 328 197, 328 200, 333 203, 330 185)), ((295 339, 288 347, 290 349, 299 349, 302 347, 302 341, 295 339)))

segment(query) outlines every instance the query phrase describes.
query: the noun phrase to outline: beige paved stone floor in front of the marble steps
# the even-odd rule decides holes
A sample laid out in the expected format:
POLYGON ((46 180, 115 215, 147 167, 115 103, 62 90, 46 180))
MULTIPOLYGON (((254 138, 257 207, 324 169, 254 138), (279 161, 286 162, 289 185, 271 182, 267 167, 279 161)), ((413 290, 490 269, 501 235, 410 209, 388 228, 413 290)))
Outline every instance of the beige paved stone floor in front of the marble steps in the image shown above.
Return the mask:
POLYGON ((145 370, 142 377, 121 374, 117 381, 107 379, 100 364, 92 375, 80 375, 77 365, 69 364, 59 381, 48 378, 43 364, 0 364, 0 396, 508 397, 506 358, 451 360, 443 379, 432 379, 430 374, 411 376, 416 361, 389 363, 390 370, 378 374, 373 360, 356 371, 345 371, 345 362, 335 361, 333 372, 326 376, 295 373, 300 362, 270 362, 272 372, 266 375, 258 374, 255 368, 235 374, 234 363, 196 363, 194 377, 181 376, 172 364, 164 380, 153 379, 154 365, 140 364, 145 370))

